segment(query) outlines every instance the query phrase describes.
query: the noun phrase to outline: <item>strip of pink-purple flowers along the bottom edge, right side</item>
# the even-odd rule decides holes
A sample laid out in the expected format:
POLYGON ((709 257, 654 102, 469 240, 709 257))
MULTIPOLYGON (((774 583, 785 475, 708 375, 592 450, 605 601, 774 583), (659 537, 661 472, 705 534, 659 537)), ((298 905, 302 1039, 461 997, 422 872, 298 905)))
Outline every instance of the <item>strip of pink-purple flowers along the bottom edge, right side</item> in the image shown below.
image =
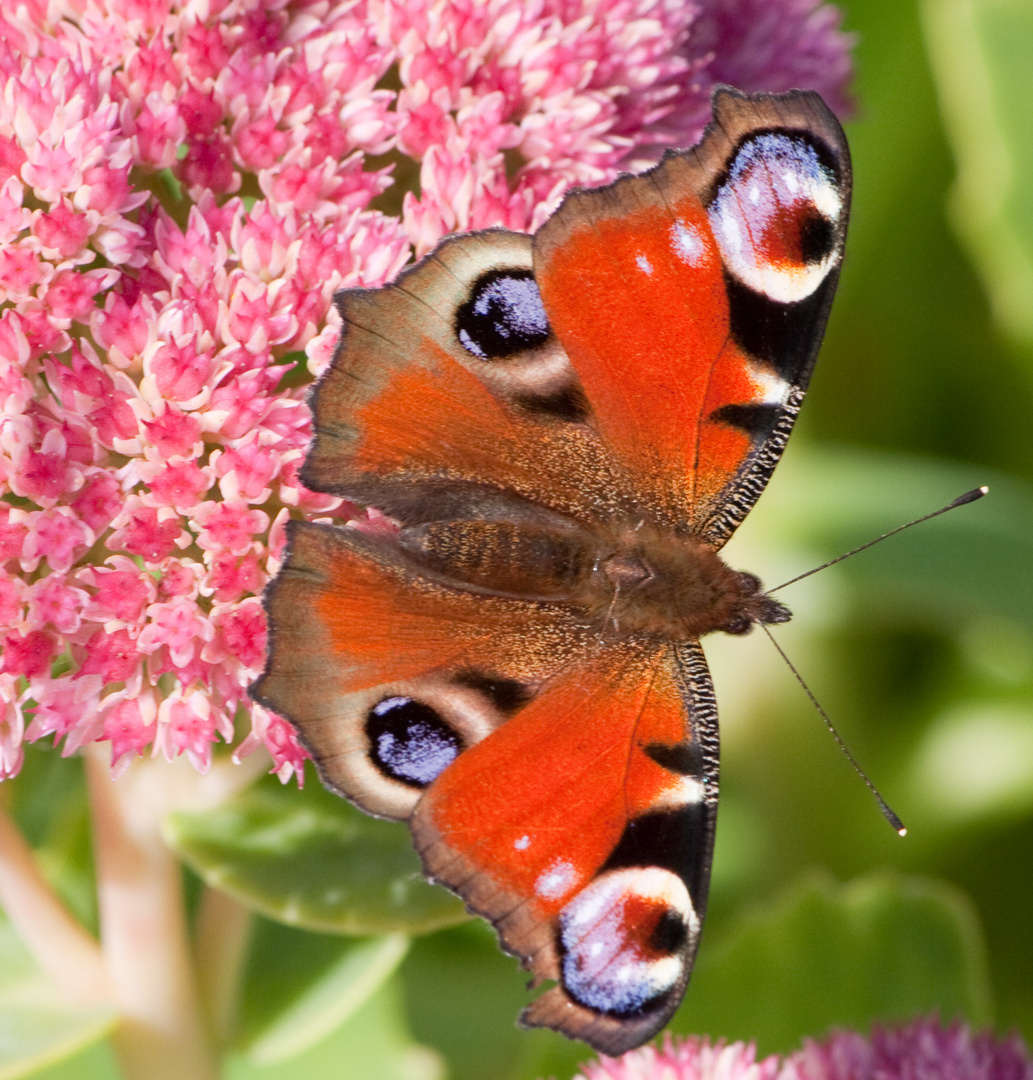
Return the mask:
POLYGON ((876 1026, 871 1038, 836 1031, 784 1059, 760 1062, 741 1042, 667 1036, 661 1048, 587 1065, 575 1080, 1033 1080, 1033 1058, 1018 1036, 998 1040, 934 1017, 876 1026))

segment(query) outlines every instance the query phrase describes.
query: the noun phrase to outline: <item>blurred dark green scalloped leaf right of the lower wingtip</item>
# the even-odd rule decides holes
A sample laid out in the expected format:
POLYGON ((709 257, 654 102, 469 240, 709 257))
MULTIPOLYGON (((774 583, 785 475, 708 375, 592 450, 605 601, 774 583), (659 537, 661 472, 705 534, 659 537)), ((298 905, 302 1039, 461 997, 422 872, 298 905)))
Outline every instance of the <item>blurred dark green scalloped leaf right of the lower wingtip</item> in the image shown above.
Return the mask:
POLYGON ((813 873, 703 940, 671 1029, 755 1039, 786 1052, 831 1027, 938 1011, 990 1021, 982 933, 960 891, 926 878, 870 875, 839 885, 813 873))

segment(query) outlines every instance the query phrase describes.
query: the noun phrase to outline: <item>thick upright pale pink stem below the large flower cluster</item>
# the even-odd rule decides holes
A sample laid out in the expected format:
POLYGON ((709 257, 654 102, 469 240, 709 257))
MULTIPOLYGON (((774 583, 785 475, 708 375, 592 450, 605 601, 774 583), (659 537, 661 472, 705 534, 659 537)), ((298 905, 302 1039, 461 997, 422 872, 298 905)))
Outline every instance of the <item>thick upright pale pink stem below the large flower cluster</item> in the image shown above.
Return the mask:
MULTIPOLYGON (((86 759, 100 941, 122 1023, 112 1037, 126 1080, 216 1080, 201 1022, 178 863, 160 835, 151 762, 112 781, 86 759)), ((169 767, 155 762, 159 768, 169 767)))

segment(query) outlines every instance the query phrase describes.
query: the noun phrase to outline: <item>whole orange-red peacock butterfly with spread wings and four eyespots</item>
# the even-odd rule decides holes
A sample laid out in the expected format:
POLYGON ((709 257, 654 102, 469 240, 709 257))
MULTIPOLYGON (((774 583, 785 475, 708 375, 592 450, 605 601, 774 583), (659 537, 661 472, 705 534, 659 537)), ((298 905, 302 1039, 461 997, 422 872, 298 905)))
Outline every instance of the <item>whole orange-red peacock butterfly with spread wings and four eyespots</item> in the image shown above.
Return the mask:
POLYGON ((850 195, 817 94, 712 106, 534 235, 338 294, 301 478, 391 527, 291 523, 253 689, 549 984, 522 1023, 612 1055, 678 1008, 707 906, 699 638, 790 618, 719 552, 800 409, 850 195))

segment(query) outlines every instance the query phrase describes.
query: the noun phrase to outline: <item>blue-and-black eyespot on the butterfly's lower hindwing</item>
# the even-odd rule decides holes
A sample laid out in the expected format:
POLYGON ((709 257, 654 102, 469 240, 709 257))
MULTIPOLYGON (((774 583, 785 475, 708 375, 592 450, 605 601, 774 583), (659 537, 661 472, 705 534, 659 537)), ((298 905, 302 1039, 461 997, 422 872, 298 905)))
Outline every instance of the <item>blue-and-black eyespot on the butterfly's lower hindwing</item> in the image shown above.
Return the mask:
POLYGON ((450 766, 462 743, 429 705, 412 698, 385 698, 366 717, 373 764, 389 780, 426 787, 450 766))

